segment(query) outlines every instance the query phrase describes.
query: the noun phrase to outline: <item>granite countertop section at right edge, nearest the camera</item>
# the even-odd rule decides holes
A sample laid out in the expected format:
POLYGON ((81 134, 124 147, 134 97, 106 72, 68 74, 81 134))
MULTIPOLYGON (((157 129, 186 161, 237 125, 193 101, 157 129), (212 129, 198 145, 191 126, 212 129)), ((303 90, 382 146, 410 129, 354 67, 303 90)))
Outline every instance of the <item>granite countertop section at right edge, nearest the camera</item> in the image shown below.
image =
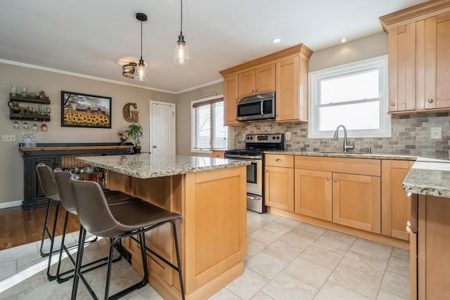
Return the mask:
POLYGON ((450 197, 450 161, 418 157, 403 189, 406 193, 450 197))

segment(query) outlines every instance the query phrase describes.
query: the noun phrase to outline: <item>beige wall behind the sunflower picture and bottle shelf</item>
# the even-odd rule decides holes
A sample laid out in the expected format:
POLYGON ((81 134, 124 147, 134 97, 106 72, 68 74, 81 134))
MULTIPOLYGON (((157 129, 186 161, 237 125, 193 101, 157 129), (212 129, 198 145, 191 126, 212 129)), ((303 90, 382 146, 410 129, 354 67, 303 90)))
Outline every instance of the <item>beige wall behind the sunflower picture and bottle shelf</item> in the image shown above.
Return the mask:
MULTIPOLYGON (((29 130, 13 129, 13 120, 9 119, 7 103, 12 85, 26 86, 30 91, 42 89, 51 100, 51 122, 47 123, 49 131, 35 133, 37 143, 119 142, 117 132, 126 129, 129 124, 122 116, 122 108, 125 103, 135 102, 139 110, 139 123, 143 126, 142 150, 148 151, 149 100, 176 103, 176 95, 170 93, 2 63, 0 63, 0 78, 0 94, 4 103, 3 109, 0 110, 0 134, 15 134, 17 139, 15 143, 0 142, 0 203, 23 200, 23 159, 18 151, 18 143, 22 133, 29 130), (112 129, 61 127, 61 91, 75 91, 113 98, 112 129)), ((28 123, 31 126, 33 122, 28 121, 28 123)))

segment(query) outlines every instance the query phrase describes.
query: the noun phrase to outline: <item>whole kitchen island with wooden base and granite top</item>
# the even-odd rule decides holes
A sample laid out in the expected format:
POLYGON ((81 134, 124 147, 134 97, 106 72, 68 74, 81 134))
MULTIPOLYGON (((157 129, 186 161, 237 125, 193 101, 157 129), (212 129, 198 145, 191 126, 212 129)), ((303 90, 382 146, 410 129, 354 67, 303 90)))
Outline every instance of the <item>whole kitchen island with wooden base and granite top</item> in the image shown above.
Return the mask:
MULTIPOLYGON (((122 190, 181 214, 176 223, 186 299, 207 299, 243 273, 246 256, 246 165, 211 157, 113 155, 77 157, 106 171, 105 188, 122 190)), ((176 264, 172 230, 146 233, 148 247, 176 264)), ((142 273, 140 250, 124 241, 142 273)), ((180 299, 176 271, 148 254, 150 285, 164 299, 180 299)))

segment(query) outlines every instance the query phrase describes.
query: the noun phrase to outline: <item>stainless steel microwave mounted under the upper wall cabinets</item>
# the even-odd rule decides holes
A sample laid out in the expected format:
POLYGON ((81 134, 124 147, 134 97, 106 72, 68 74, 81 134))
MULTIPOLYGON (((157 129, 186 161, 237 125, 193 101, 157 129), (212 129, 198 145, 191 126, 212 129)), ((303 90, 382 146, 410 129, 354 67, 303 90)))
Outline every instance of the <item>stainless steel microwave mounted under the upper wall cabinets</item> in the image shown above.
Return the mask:
POLYGON ((275 92, 238 100, 238 121, 275 119, 275 92))

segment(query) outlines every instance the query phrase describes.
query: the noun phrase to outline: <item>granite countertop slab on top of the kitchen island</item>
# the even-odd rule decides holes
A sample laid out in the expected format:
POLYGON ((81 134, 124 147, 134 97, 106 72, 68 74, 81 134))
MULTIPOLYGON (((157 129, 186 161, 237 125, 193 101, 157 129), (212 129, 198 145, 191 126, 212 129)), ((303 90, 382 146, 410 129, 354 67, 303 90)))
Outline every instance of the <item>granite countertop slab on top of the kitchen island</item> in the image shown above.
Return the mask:
POLYGON ((143 179, 240 167, 250 164, 248 161, 238 159, 181 155, 171 157, 158 157, 146 154, 106 155, 75 157, 75 159, 93 167, 101 167, 116 173, 143 179))

